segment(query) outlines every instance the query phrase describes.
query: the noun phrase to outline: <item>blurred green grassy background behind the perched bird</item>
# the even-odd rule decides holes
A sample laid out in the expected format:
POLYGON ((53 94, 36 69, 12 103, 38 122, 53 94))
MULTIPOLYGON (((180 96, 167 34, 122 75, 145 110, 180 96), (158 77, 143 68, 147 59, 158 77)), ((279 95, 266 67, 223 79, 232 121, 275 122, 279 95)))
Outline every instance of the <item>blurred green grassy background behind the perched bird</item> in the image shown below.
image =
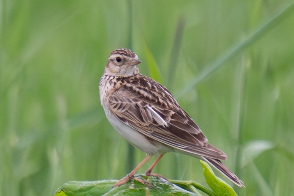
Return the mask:
MULTIPOLYGON (((144 158, 100 105, 108 55, 122 47, 228 155, 225 164, 246 185, 235 187, 239 195, 294 195, 293 7, 0 0, 0 195, 120 179, 144 158)), ((205 184, 199 161, 187 155, 166 154, 154 172, 205 184)))

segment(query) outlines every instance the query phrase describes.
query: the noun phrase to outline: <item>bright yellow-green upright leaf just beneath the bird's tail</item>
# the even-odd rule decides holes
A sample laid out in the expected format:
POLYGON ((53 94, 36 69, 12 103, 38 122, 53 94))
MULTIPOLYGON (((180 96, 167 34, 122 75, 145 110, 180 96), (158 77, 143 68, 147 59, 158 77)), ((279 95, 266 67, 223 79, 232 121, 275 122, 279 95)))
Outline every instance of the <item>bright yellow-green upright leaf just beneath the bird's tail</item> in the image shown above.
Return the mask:
POLYGON ((219 196, 237 196, 233 188, 217 177, 205 161, 200 160, 207 184, 219 196))

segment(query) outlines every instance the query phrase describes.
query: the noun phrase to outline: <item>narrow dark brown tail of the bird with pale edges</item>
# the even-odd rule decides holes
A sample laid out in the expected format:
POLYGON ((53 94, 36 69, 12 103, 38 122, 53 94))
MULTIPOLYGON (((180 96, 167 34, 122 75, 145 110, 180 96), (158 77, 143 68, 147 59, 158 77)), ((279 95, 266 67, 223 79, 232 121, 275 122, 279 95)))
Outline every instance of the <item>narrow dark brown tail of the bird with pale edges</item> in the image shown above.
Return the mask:
POLYGON ((210 165, 215 167, 218 171, 223 173, 228 179, 230 179, 232 182, 234 182, 239 187, 245 187, 244 183, 240 178, 238 178, 231 170, 229 170, 228 167, 226 167, 220 160, 213 159, 213 158, 206 158, 202 157, 203 160, 207 161, 210 165))

